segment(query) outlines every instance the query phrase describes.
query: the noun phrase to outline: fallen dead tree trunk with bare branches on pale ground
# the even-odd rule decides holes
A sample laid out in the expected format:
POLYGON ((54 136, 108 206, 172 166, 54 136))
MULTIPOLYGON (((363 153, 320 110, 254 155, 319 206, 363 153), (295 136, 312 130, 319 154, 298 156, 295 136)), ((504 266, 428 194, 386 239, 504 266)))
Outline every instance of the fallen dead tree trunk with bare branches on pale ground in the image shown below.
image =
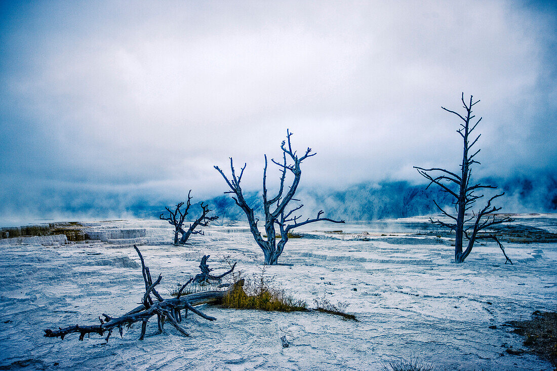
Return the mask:
MULTIPOLYGON (((243 286, 244 281, 240 280, 236 282, 233 286, 229 287, 228 290, 223 291, 202 291, 202 292, 193 292, 192 294, 182 295, 182 291, 185 289, 185 286, 189 284, 192 280, 188 281, 188 284, 183 285, 180 287, 178 295, 176 297, 172 297, 170 299, 164 299, 155 289, 155 286, 160 284, 162 280, 162 276, 159 275, 158 279, 153 282, 149 268, 145 266, 145 262, 143 260, 143 256, 139 251, 139 248, 134 245, 135 250, 137 251, 139 258, 141 260, 141 272, 143 274, 143 280, 145 283, 145 293, 143 297, 141 297, 141 305, 135 307, 135 309, 129 311, 128 313, 113 318, 107 314, 102 314, 104 320, 99 317, 100 324, 99 325, 87 325, 87 326, 80 326, 74 325, 69 326, 66 328, 58 328, 57 330, 46 329, 45 336, 47 338, 63 338, 67 334, 71 333, 79 333, 79 340, 83 340, 85 335, 89 335, 91 333, 96 333, 103 336, 106 333, 105 340, 108 341, 112 331, 114 329, 118 329, 120 336, 123 336, 124 333, 124 326, 130 328, 130 326, 136 322, 141 322, 141 335, 139 340, 143 340, 145 336, 145 331, 147 327, 147 323, 150 318, 157 315, 157 323, 159 333, 162 333, 163 326, 165 321, 168 321, 178 332, 182 335, 189 336, 188 332, 180 326, 180 322, 182 321, 182 311, 185 311, 185 315, 187 316, 188 310, 192 311, 193 313, 207 319, 209 321, 214 321, 216 318, 208 316, 204 314, 202 311, 196 309, 197 305, 201 304, 211 304, 215 302, 219 302, 222 298, 228 294, 228 292, 234 290, 235 287, 243 286), (155 300, 151 297, 154 296, 155 300)), ((203 257, 202 263, 204 262, 204 266, 207 267, 207 258, 203 257)), ((235 264, 234 264, 235 265, 235 264)), ((208 267, 207 267, 208 269, 208 267)), ((225 274, 218 276, 219 278, 224 277, 225 275, 232 272, 232 269, 226 272, 225 274)), ((203 273, 204 274, 204 273, 203 273)), ((207 272, 207 276, 208 275, 207 272)), ((197 276, 196 276, 197 277, 197 276)), ((213 277, 213 276, 211 276, 213 277)))

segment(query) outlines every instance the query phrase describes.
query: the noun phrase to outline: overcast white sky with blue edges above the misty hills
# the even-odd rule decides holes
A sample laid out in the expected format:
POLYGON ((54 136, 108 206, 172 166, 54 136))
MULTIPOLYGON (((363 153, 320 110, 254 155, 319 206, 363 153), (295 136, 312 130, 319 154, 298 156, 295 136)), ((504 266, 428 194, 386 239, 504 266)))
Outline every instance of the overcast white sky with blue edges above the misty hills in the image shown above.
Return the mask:
POLYGON ((2 204, 57 189, 213 196, 231 156, 257 188, 287 128, 317 152, 306 185, 421 182, 413 165, 458 168, 458 121, 440 106, 460 109, 461 92, 481 99, 478 175, 557 168, 551 2, 0 9, 2 204))

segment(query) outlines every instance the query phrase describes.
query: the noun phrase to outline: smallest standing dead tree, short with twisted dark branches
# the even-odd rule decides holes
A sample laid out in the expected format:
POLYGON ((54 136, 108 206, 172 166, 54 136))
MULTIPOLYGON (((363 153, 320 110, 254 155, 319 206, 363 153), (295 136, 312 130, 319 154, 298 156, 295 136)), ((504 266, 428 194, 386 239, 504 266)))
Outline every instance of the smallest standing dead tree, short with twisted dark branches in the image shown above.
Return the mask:
POLYGON ((190 196, 191 193, 192 190, 190 189, 188 192, 188 201, 185 203, 184 209, 182 209, 184 203, 180 202, 176 204, 176 208, 174 209, 174 211, 170 210, 168 206, 165 207, 165 209, 167 209, 168 216, 164 216, 164 213, 159 215, 159 219, 168 221, 171 226, 174 226, 174 245, 184 245, 184 243, 188 241, 188 238, 191 235, 203 235, 203 231, 196 231, 196 228, 207 227, 209 225, 209 222, 218 219, 218 216, 207 216, 207 214, 210 213, 212 210, 209 210, 209 205, 204 205, 202 202, 201 204, 199 204, 202 209, 201 216, 197 218, 192 224, 189 224, 189 228, 187 231, 184 231, 184 220, 185 217, 188 215, 190 206, 192 206, 191 201, 193 197, 190 196), (182 235, 182 237, 180 237, 180 240, 178 240, 178 234, 182 235))

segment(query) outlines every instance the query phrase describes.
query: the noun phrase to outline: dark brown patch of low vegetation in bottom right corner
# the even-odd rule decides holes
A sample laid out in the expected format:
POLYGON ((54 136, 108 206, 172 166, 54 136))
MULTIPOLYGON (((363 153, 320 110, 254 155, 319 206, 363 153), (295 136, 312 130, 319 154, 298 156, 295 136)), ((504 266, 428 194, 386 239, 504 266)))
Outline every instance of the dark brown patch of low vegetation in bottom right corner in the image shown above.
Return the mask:
POLYGON ((557 313, 532 313, 532 318, 526 321, 510 321, 515 329, 514 333, 525 337, 524 345, 530 349, 529 353, 548 360, 554 370, 557 370, 557 313))

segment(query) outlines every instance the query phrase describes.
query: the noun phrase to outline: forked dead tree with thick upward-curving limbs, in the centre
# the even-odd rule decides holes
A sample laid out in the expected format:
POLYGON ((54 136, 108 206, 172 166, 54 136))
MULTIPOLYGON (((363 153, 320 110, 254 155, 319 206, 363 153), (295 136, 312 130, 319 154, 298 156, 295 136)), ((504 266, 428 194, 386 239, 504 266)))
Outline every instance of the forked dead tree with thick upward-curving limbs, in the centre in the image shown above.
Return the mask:
POLYGON ((316 155, 316 153, 311 153, 311 148, 307 148, 305 154, 301 157, 298 157, 296 151, 292 150, 290 136, 292 136, 292 133, 290 133, 289 130, 286 130, 286 140, 283 140, 281 144, 282 163, 276 162, 275 160, 271 159, 271 162, 276 164, 281 169, 280 184, 278 187, 278 192, 274 197, 269 197, 267 194, 267 155, 265 155, 265 168, 263 168, 263 212, 265 213, 266 240, 263 236, 261 236, 261 232, 258 230, 257 222, 259 220, 255 217, 253 208, 247 204, 246 199, 242 194, 242 188, 240 187, 242 175, 244 170, 246 169, 246 164, 244 164, 243 168, 241 169, 240 175, 237 176, 236 172, 234 171, 232 158, 230 158, 230 169, 232 172, 231 179, 227 178, 221 168, 219 168, 218 166, 214 167, 219 173, 221 173, 222 177, 226 181, 226 184, 228 184, 228 187, 230 188, 230 191, 224 193, 234 194, 234 202, 236 202, 236 204, 240 206, 240 208, 242 208, 242 210, 246 213, 253 238, 255 238, 255 242, 257 242, 257 245, 261 247, 261 250, 263 250, 263 255, 265 255, 265 265, 277 264, 278 257, 281 255, 282 250, 284 250, 284 246, 288 241, 288 233, 294 228, 318 221, 344 223, 344 220, 337 221, 321 217, 323 211, 319 211, 316 218, 307 218, 305 221, 300 221, 301 217, 295 216, 294 213, 296 211, 299 211, 304 206, 303 204, 300 204, 299 206, 286 211, 286 208, 290 201, 299 201, 294 198, 294 194, 296 193, 296 189, 300 183, 302 174, 300 165, 302 161, 304 161, 308 157, 316 155), (287 158, 289 160, 288 162, 287 158), (292 179, 292 183, 290 184, 290 186, 285 187, 286 175, 289 172, 292 173, 294 178, 292 179), (286 189, 288 189, 288 191, 285 193, 286 189), (280 240, 278 240, 278 242, 278 236, 276 236, 276 227, 278 227, 278 230, 280 231, 280 240))

